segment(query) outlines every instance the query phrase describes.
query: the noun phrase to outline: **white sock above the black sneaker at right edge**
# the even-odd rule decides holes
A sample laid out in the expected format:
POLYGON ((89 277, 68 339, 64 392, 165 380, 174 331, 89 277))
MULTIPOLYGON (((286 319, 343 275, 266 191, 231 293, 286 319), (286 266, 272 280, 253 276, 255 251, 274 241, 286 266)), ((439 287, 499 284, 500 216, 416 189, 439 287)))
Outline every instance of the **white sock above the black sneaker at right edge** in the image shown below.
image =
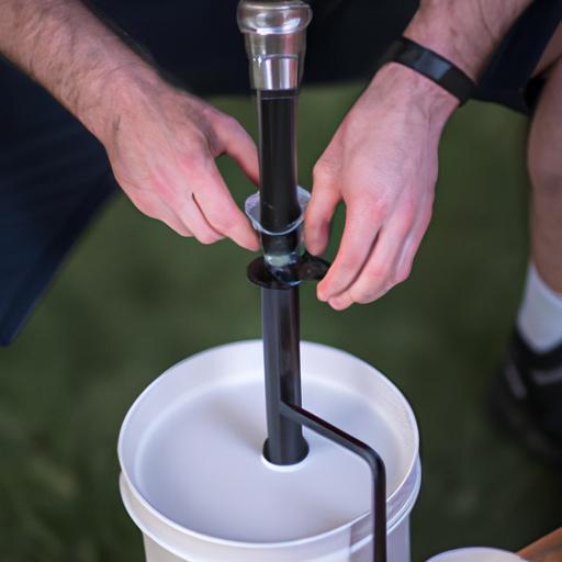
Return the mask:
POLYGON ((531 262, 517 327, 527 344, 542 353, 562 342, 562 294, 548 286, 531 262))

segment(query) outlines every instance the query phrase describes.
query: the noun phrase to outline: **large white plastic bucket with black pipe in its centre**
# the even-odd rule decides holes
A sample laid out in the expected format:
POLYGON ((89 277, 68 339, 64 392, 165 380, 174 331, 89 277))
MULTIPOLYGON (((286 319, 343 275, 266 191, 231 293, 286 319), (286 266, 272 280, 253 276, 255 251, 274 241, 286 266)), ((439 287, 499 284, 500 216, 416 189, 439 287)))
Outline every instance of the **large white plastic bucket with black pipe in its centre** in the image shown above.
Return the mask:
MULTIPOLYGON (((400 391, 344 351, 301 345, 303 406, 386 464, 389 562, 409 561, 420 484, 418 431, 400 391)), ((193 356, 154 381, 119 440, 125 507, 147 562, 369 562, 370 473, 305 430, 307 458, 269 464, 261 341, 193 356)))

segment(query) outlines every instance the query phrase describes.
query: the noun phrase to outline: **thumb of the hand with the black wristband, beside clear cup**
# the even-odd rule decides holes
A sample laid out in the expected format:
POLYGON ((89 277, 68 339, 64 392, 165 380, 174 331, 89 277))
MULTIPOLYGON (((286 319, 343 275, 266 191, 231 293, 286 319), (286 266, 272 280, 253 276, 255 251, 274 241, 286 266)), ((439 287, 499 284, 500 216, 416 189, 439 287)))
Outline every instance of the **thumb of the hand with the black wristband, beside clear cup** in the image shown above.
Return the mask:
POLYGON ((304 218, 304 241, 313 256, 321 256, 326 251, 329 225, 339 199, 336 190, 315 183, 304 218))

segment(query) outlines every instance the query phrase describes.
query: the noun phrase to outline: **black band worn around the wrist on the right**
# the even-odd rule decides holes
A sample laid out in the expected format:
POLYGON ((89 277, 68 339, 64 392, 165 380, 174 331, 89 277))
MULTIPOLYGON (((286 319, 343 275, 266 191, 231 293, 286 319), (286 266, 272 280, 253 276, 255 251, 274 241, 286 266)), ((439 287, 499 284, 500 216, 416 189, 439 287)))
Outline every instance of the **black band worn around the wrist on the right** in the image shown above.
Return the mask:
POLYGON ((386 63, 398 63, 429 78, 452 93, 461 105, 476 88, 474 81, 458 66, 407 37, 401 37, 390 46, 381 59, 381 66, 386 63))

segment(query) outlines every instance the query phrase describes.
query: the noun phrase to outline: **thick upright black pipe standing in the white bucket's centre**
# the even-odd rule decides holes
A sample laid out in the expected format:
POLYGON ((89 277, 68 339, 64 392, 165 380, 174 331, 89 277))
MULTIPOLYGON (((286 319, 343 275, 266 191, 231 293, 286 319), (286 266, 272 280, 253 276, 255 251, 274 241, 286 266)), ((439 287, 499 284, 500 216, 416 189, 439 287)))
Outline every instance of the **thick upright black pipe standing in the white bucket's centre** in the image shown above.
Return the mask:
MULTIPOLYGON (((260 223, 270 233, 285 232, 301 214, 296 195, 295 90, 258 92, 260 134, 260 223)), ((299 256, 299 233, 261 234, 268 257, 283 263, 299 256)), ((276 266, 277 267, 277 266, 276 266)), ((281 266, 282 267, 282 266, 281 266)), ((278 271, 279 273, 279 271, 278 271)), ((266 459, 294 464, 306 457, 302 427, 280 413, 282 401, 301 404, 299 288, 261 289, 268 439, 266 459)))

